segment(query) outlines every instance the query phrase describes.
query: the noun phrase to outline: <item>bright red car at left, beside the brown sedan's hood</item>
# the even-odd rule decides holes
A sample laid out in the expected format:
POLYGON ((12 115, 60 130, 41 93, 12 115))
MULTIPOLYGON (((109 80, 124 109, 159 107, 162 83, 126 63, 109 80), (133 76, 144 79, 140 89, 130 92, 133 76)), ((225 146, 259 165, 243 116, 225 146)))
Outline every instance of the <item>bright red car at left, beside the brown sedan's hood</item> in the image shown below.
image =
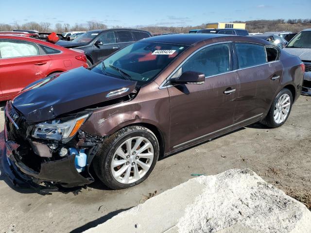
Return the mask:
POLYGON ((82 66, 87 67, 82 50, 0 33, 0 101, 12 99, 38 79, 82 66))

